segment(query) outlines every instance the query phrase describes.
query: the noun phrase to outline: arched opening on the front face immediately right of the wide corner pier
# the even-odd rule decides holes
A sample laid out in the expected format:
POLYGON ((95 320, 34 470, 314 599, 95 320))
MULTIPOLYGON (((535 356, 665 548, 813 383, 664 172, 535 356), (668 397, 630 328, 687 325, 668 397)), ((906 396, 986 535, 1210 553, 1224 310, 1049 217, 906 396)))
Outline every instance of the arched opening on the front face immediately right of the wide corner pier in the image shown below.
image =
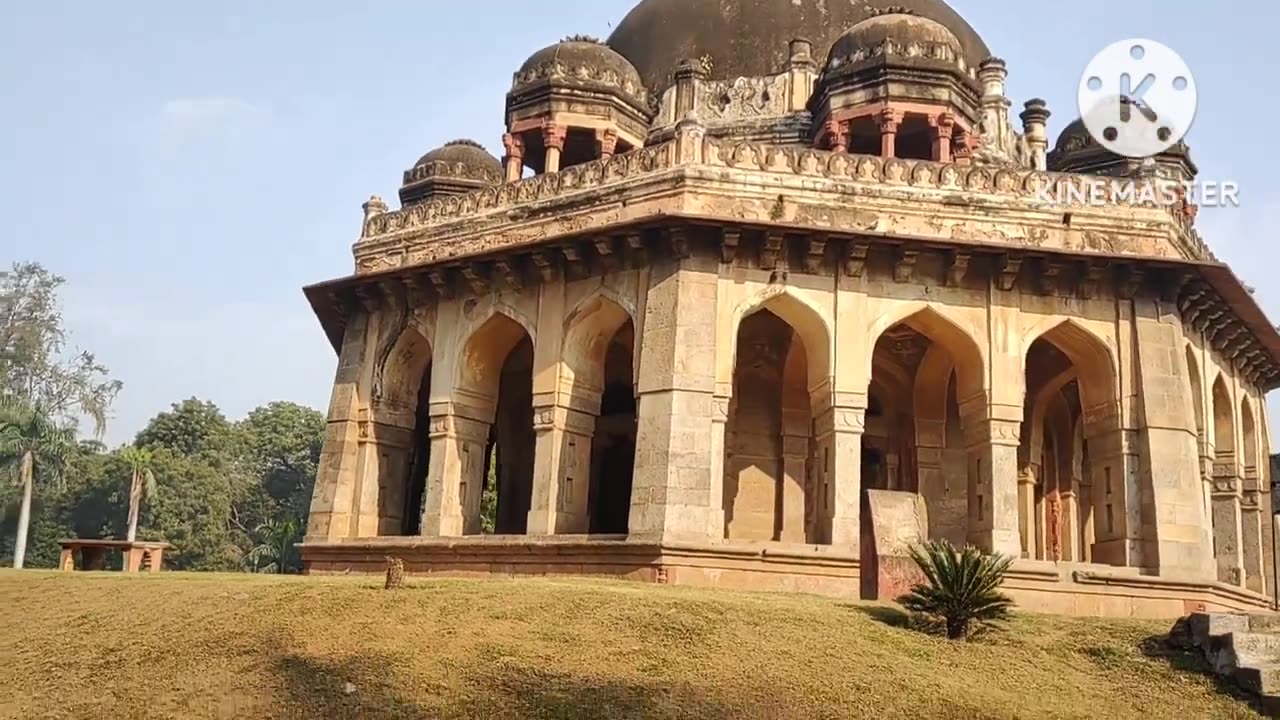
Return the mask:
POLYGON ((829 379, 828 337, 822 318, 788 295, 739 323, 724 425, 727 539, 829 542, 812 400, 829 379))

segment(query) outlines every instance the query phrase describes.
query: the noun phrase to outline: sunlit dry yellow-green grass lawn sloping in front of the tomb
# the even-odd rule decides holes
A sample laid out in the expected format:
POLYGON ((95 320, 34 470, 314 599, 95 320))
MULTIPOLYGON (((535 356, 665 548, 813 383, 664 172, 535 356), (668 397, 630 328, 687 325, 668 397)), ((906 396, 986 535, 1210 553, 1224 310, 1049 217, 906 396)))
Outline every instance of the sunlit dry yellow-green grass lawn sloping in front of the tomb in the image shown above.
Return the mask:
POLYGON ((3 717, 1256 717, 1170 623, 948 643, 808 596, 0 571, 3 717), (1146 651, 1144 651, 1146 648, 1146 651))

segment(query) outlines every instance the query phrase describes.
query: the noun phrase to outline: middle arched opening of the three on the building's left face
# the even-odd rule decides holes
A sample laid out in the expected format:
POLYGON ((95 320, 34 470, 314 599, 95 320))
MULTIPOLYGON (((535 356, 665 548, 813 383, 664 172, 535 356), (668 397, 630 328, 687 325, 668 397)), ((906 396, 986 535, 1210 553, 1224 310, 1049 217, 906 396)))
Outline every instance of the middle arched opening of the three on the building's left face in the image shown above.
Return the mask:
POLYGON ((494 314, 467 341, 454 396, 481 424, 484 454, 463 469, 463 534, 525 534, 534 486, 534 343, 494 314))

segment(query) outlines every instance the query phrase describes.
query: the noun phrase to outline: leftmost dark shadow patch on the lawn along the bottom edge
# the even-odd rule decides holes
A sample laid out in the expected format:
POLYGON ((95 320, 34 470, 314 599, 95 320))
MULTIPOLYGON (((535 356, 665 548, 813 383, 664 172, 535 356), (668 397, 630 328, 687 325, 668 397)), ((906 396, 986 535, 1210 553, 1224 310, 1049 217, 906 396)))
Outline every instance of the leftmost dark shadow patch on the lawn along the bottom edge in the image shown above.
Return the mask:
POLYGON ((402 697, 398 684, 388 676, 388 669, 394 666, 389 657, 317 660, 282 653, 273 665, 284 685, 287 717, 434 717, 426 707, 402 697))

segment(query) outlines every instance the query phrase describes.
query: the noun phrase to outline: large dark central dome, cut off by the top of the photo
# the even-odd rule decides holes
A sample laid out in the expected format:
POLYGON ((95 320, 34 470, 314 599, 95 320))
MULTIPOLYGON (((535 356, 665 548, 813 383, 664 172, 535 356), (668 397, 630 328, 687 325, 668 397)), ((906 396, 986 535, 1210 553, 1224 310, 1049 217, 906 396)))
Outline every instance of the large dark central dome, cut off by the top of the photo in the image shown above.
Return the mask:
POLYGON ((991 55, 982 37, 943 0, 643 0, 609 37, 609 46, 640 70, 650 90, 671 86, 682 60, 709 55, 712 77, 732 79, 778 72, 787 42, 813 41, 814 58, 850 27, 887 8, 905 8, 950 29, 977 67, 991 55))

